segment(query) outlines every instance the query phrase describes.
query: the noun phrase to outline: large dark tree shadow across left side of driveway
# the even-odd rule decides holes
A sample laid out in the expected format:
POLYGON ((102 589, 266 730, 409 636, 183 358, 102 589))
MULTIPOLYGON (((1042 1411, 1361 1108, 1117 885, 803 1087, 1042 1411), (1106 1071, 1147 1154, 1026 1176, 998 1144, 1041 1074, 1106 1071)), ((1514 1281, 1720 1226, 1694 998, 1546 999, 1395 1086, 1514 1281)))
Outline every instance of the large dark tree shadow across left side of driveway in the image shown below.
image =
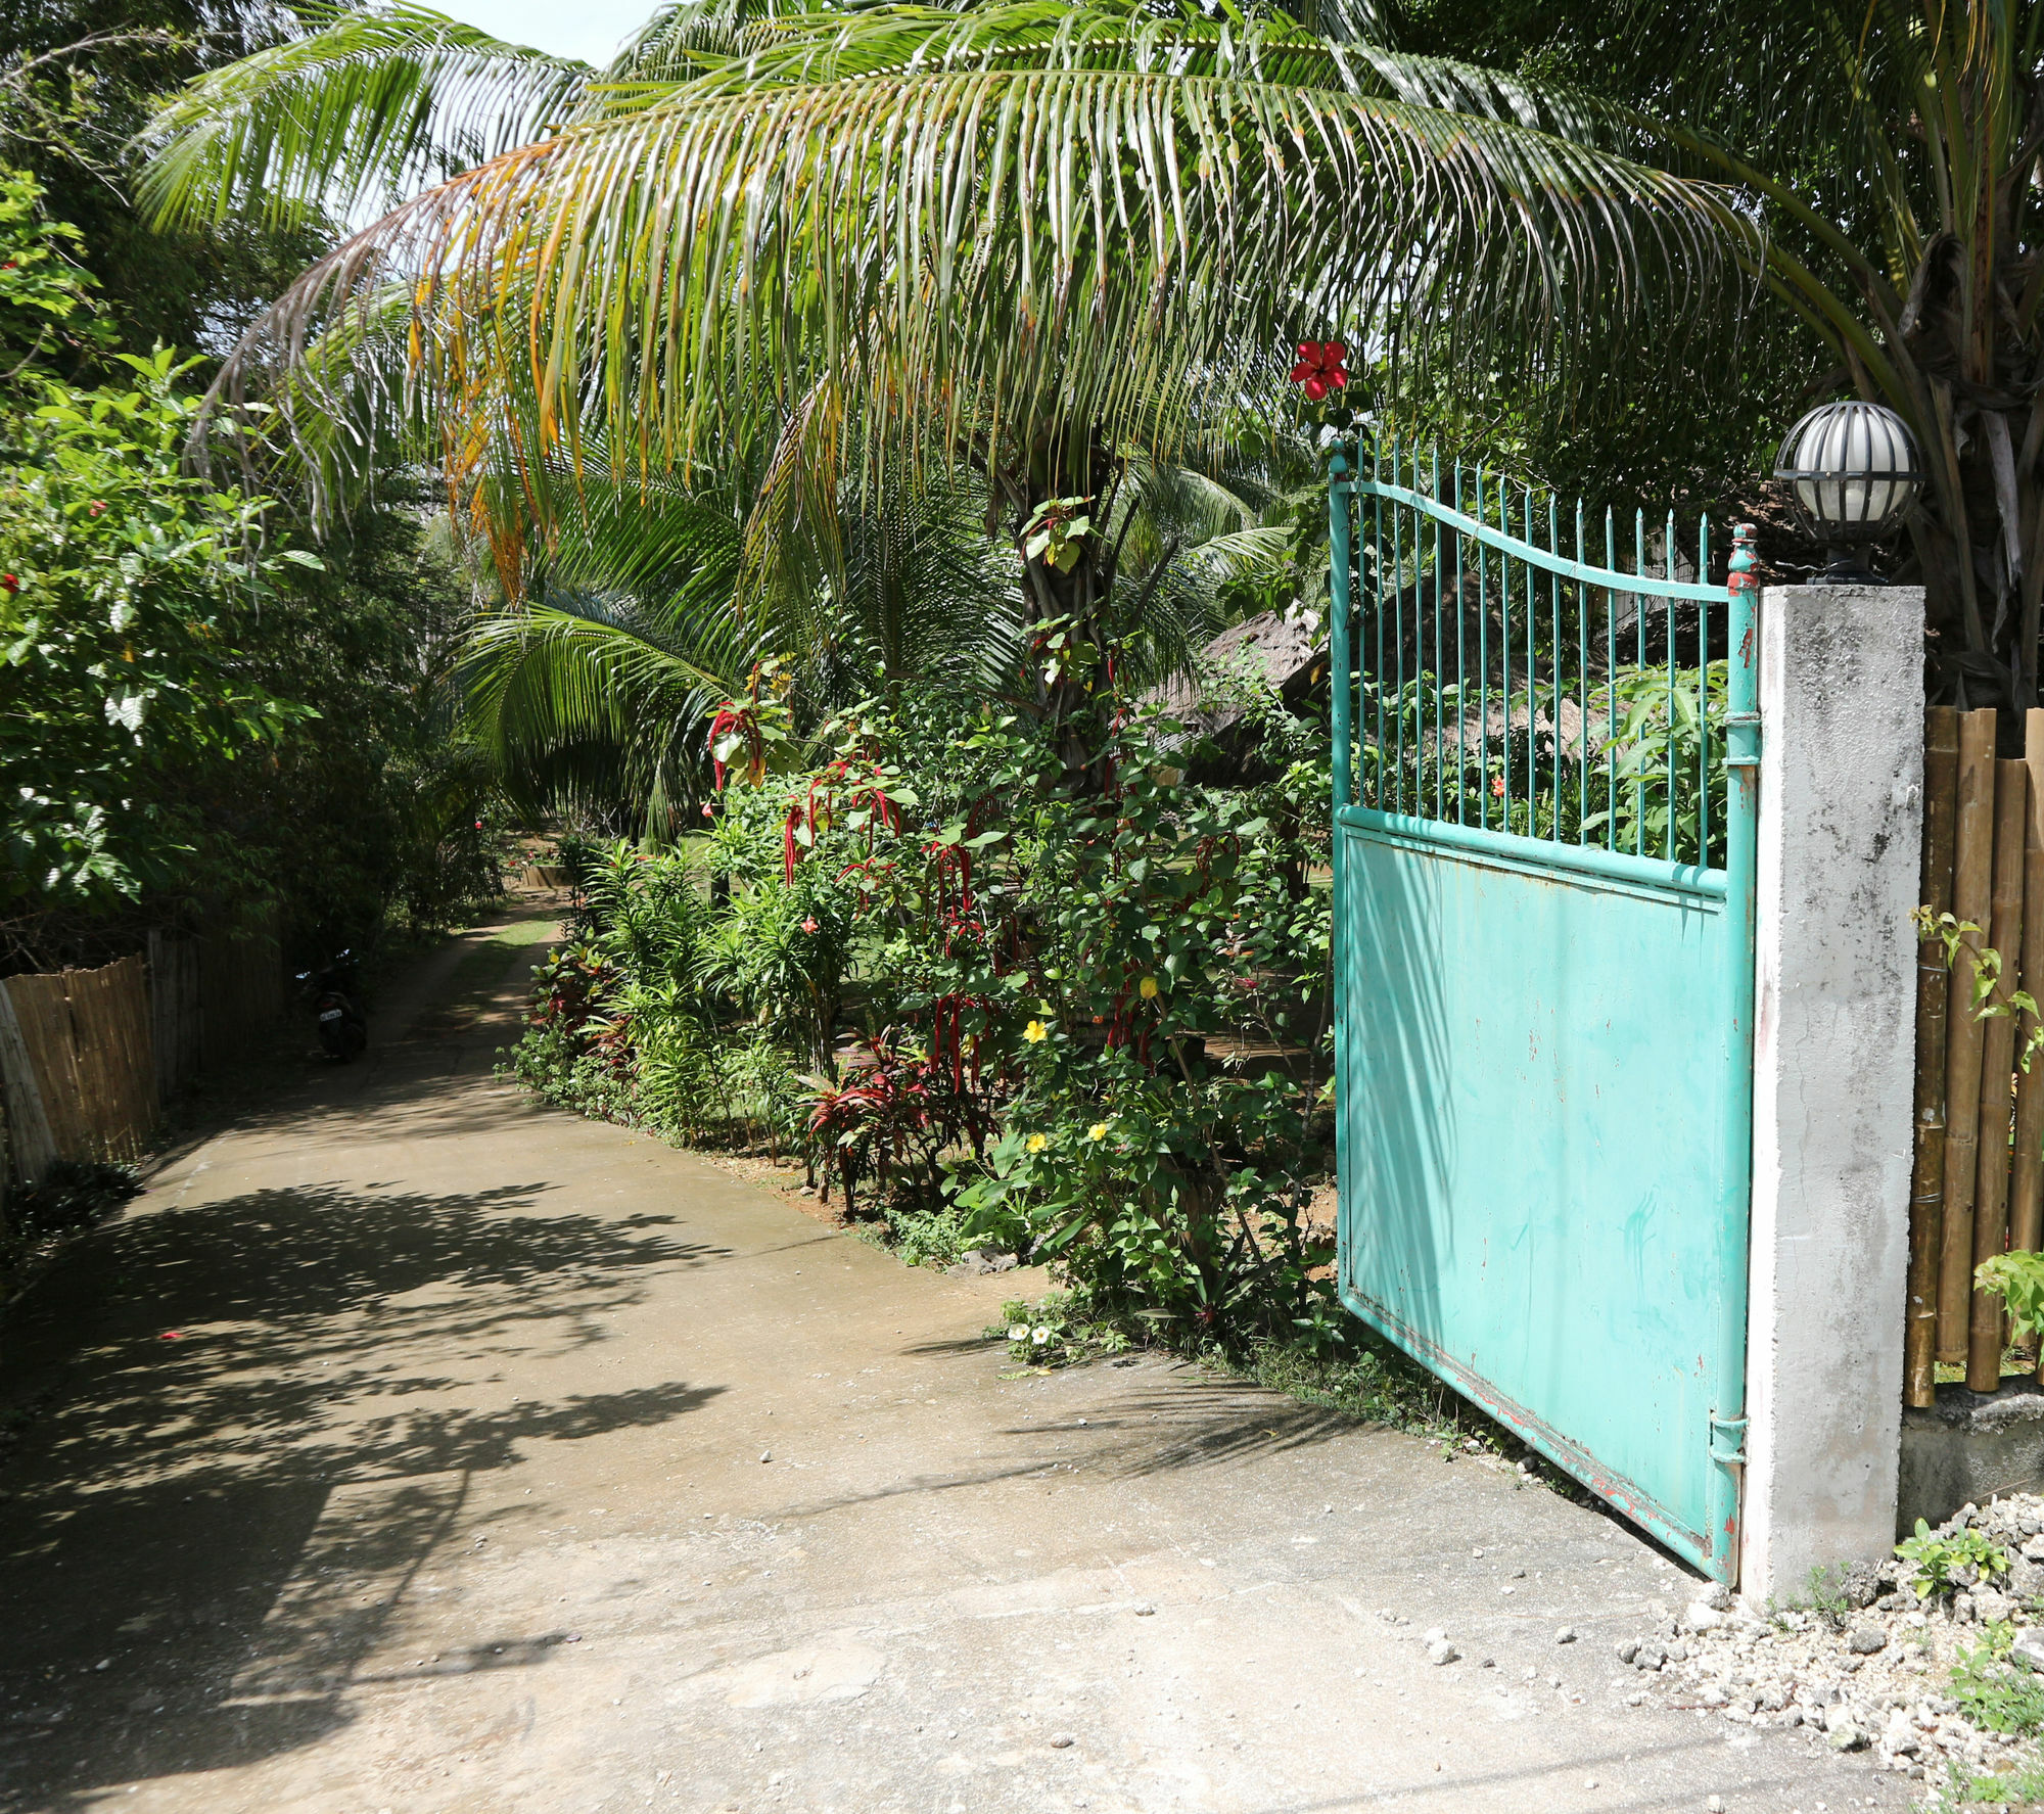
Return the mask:
MULTIPOLYGON (((654 1218, 538 1211, 544 1189, 311 1185, 143 1213, 16 1307, 0 1808, 80 1808, 345 1724, 343 1687, 478 1473, 722 1391, 507 1401, 501 1365, 601 1342, 652 1273, 724 1256, 654 1218)), ((435 1669, 529 1667, 566 1638, 480 1634, 435 1669)))

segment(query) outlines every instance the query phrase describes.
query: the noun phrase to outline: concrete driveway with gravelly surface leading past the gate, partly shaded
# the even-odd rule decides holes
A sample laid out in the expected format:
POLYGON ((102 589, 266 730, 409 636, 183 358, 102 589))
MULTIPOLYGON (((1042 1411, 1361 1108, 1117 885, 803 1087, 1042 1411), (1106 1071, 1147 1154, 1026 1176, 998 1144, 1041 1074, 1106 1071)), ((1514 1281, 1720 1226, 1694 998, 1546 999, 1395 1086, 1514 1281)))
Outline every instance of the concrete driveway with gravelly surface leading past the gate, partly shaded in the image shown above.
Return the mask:
POLYGON ((1004 1379, 1012 1275, 533 1107, 499 942, 0 1336, 0 1808, 1907 1804, 1627 1708, 1686 1583, 1609 1520, 1159 1360, 1004 1379))

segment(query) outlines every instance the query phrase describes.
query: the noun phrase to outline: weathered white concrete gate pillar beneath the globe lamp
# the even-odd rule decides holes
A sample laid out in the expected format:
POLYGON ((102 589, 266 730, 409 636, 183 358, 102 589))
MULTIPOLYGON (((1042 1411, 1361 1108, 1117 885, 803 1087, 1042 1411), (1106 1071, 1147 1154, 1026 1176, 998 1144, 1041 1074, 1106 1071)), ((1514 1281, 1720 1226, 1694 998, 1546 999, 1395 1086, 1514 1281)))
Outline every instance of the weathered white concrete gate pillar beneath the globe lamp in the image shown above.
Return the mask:
POLYGON ((1739 1587, 1895 1542, 1923 594, 1760 601, 1754 1220, 1739 1587))

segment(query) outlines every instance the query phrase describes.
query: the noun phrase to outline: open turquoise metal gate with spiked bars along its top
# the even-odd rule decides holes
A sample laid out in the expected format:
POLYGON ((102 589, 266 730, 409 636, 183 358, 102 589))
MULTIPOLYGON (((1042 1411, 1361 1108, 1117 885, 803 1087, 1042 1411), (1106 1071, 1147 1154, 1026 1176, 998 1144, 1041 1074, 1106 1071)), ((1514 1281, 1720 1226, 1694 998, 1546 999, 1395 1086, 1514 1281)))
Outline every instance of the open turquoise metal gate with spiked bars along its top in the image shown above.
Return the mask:
POLYGON ((1750 550, 1711 586, 1635 519, 1625 572, 1607 515, 1588 562, 1580 507, 1564 554, 1551 496, 1396 449, 1329 527, 1343 1299, 1733 1579, 1750 550))

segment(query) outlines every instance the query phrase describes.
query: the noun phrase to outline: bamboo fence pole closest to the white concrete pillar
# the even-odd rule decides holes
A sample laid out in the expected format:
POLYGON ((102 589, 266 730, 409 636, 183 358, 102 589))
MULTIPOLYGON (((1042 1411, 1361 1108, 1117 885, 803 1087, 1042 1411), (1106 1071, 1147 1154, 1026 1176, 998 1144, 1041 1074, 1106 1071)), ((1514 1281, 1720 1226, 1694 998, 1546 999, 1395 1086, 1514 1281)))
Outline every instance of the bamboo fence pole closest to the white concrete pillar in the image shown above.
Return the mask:
MULTIPOLYGON (((2044 717, 2044 713, 2040 713, 2044 717)), ((1952 840, 1958 831, 1958 711, 1923 713, 1923 880, 1932 913, 1952 911, 1952 840)), ((1938 1401, 1938 1254, 1944 1236, 1944 1060, 1952 972, 1944 946, 1917 948, 1915 1166, 1909 1181, 1909 1322, 1903 1334, 1903 1397, 1938 1401)), ((2044 1064, 2038 1066, 2044 1077, 2044 1064)))

